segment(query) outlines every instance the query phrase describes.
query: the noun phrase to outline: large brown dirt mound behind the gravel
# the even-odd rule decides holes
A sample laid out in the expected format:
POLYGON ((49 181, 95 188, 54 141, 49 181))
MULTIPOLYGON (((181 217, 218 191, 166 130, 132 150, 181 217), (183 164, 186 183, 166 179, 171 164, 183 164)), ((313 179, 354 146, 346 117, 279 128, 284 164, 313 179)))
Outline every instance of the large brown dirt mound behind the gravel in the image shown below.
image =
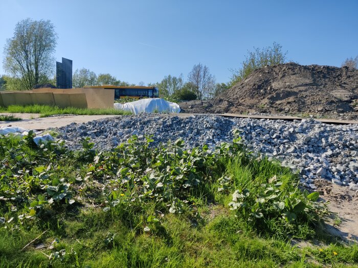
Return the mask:
POLYGON ((183 110, 210 113, 355 113, 357 99, 358 70, 286 63, 257 69, 217 98, 202 105, 184 104, 183 110))

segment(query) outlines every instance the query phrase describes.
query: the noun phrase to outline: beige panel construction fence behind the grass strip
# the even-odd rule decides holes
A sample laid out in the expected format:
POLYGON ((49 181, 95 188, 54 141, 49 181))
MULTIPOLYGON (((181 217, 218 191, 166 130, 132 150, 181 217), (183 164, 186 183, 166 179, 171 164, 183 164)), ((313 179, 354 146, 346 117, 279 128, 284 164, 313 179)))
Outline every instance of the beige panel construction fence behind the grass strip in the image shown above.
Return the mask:
POLYGON ((24 91, 0 91, 0 106, 50 105, 78 108, 113 108, 114 89, 104 88, 39 88, 24 91))

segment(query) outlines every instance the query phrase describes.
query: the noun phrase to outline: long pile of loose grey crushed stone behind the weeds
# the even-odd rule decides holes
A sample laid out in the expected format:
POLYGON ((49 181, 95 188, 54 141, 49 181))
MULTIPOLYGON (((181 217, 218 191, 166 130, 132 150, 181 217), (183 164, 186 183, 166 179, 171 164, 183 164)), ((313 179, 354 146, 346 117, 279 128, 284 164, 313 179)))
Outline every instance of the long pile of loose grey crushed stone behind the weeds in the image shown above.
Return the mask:
POLYGON ((144 139, 154 135, 154 144, 183 138, 187 146, 206 143, 214 147, 221 141, 232 141, 239 129, 248 148, 283 165, 298 170, 301 183, 315 189, 315 179, 347 185, 358 191, 358 126, 327 125, 313 119, 295 121, 252 118, 226 118, 215 115, 155 116, 142 114, 70 124, 59 128, 59 138, 81 148, 81 137, 91 137, 95 147, 108 150, 131 135, 144 139))

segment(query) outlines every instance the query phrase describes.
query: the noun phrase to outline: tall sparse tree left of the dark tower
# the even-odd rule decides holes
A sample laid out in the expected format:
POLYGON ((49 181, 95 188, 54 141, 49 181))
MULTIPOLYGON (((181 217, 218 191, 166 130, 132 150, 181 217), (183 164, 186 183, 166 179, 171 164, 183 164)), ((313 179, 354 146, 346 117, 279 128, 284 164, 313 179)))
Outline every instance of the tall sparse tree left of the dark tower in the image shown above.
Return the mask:
POLYGON ((16 24, 4 46, 4 69, 26 89, 46 83, 54 73, 57 34, 50 20, 30 18, 16 24))

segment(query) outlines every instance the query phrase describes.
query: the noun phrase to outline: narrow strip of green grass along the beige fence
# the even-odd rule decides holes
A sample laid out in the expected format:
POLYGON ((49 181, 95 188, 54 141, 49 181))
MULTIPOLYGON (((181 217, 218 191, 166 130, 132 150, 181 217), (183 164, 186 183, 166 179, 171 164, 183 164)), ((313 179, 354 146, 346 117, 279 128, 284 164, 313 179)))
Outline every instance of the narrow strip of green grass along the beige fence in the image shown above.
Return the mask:
POLYGON ((39 113, 40 117, 47 117, 55 114, 78 114, 78 115, 131 114, 130 112, 116 110, 114 108, 108 108, 108 109, 89 109, 89 108, 76 108, 76 107, 59 108, 57 106, 48 106, 48 105, 29 105, 29 106, 10 105, 8 107, 0 107, 0 112, 39 113))

